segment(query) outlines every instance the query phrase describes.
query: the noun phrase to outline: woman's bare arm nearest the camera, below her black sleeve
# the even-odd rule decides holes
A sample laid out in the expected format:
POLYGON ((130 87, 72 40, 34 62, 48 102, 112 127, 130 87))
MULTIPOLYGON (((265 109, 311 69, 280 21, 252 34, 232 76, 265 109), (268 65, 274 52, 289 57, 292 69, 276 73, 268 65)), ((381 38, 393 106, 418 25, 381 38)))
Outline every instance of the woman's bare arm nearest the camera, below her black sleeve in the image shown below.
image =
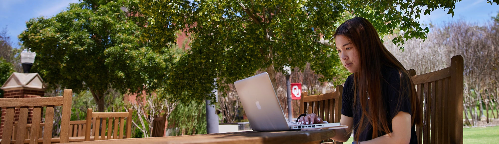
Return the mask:
MULTIPOLYGON (((341 118, 343 119, 343 117, 341 118)), ((393 132, 390 134, 359 144, 409 144, 411 141, 411 114, 398 112, 392 119, 392 130, 393 132)))

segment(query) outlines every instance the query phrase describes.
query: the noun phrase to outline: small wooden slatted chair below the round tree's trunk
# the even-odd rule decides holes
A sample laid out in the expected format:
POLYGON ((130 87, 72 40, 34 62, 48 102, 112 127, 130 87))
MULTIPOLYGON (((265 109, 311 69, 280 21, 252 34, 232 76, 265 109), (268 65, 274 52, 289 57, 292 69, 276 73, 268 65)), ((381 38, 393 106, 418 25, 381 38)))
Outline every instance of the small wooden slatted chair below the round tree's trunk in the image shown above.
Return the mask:
POLYGON ((132 132, 131 131, 132 113, 133 112, 131 108, 128 109, 128 112, 92 112, 92 109, 89 108, 87 110, 85 141, 123 139, 124 137, 130 138, 132 132), (123 135, 125 118, 127 121, 126 135, 123 135), (114 123, 114 129, 112 129, 113 123, 114 123), (107 137, 106 137, 106 126, 107 126, 107 137), (92 131, 90 131, 90 129, 92 131), (93 140, 91 140, 90 135, 94 136, 93 140))

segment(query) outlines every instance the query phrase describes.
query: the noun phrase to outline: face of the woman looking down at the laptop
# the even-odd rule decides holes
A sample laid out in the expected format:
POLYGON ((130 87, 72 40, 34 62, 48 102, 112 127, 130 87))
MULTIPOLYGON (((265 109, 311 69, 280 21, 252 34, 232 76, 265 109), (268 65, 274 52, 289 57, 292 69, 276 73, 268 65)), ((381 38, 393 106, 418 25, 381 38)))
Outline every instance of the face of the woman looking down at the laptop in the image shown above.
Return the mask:
POLYGON ((359 71, 359 52, 347 37, 342 35, 336 36, 336 51, 338 51, 341 64, 343 64, 343 67, 348 72, 355 73, 359 71))

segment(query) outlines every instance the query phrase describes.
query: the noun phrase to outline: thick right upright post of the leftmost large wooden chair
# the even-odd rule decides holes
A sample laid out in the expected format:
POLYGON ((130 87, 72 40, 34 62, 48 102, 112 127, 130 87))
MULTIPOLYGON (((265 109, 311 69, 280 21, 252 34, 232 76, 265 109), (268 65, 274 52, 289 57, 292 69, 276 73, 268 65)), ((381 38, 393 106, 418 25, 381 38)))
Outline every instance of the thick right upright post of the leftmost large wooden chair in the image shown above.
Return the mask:
POLYGON ((69 142, 69 121, 71 121, 71 104, 72 104, 73 90, 64 89, 64 96, 62 102, 62 117, 61 117, 61 131, 60 143, 69 142))

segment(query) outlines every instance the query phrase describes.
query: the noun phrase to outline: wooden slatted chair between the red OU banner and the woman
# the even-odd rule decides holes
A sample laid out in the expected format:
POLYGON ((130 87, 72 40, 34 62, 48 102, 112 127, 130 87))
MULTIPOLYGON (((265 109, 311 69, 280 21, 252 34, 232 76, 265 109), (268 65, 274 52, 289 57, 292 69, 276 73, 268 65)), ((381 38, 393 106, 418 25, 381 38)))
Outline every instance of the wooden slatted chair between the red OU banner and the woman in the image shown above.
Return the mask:
MULTIPOLYGON (((336 91, 324 94, 308 95, 307 92, 302 92, 302 97, 300 99, 300 114, 315 113, 329 123, 339 123, 341 118, 342 93, 342 85, 337 85, 336 91)), ((330 139, 324 140, 323 142, 342 144, 341 142, 332 142, 330 139)))

